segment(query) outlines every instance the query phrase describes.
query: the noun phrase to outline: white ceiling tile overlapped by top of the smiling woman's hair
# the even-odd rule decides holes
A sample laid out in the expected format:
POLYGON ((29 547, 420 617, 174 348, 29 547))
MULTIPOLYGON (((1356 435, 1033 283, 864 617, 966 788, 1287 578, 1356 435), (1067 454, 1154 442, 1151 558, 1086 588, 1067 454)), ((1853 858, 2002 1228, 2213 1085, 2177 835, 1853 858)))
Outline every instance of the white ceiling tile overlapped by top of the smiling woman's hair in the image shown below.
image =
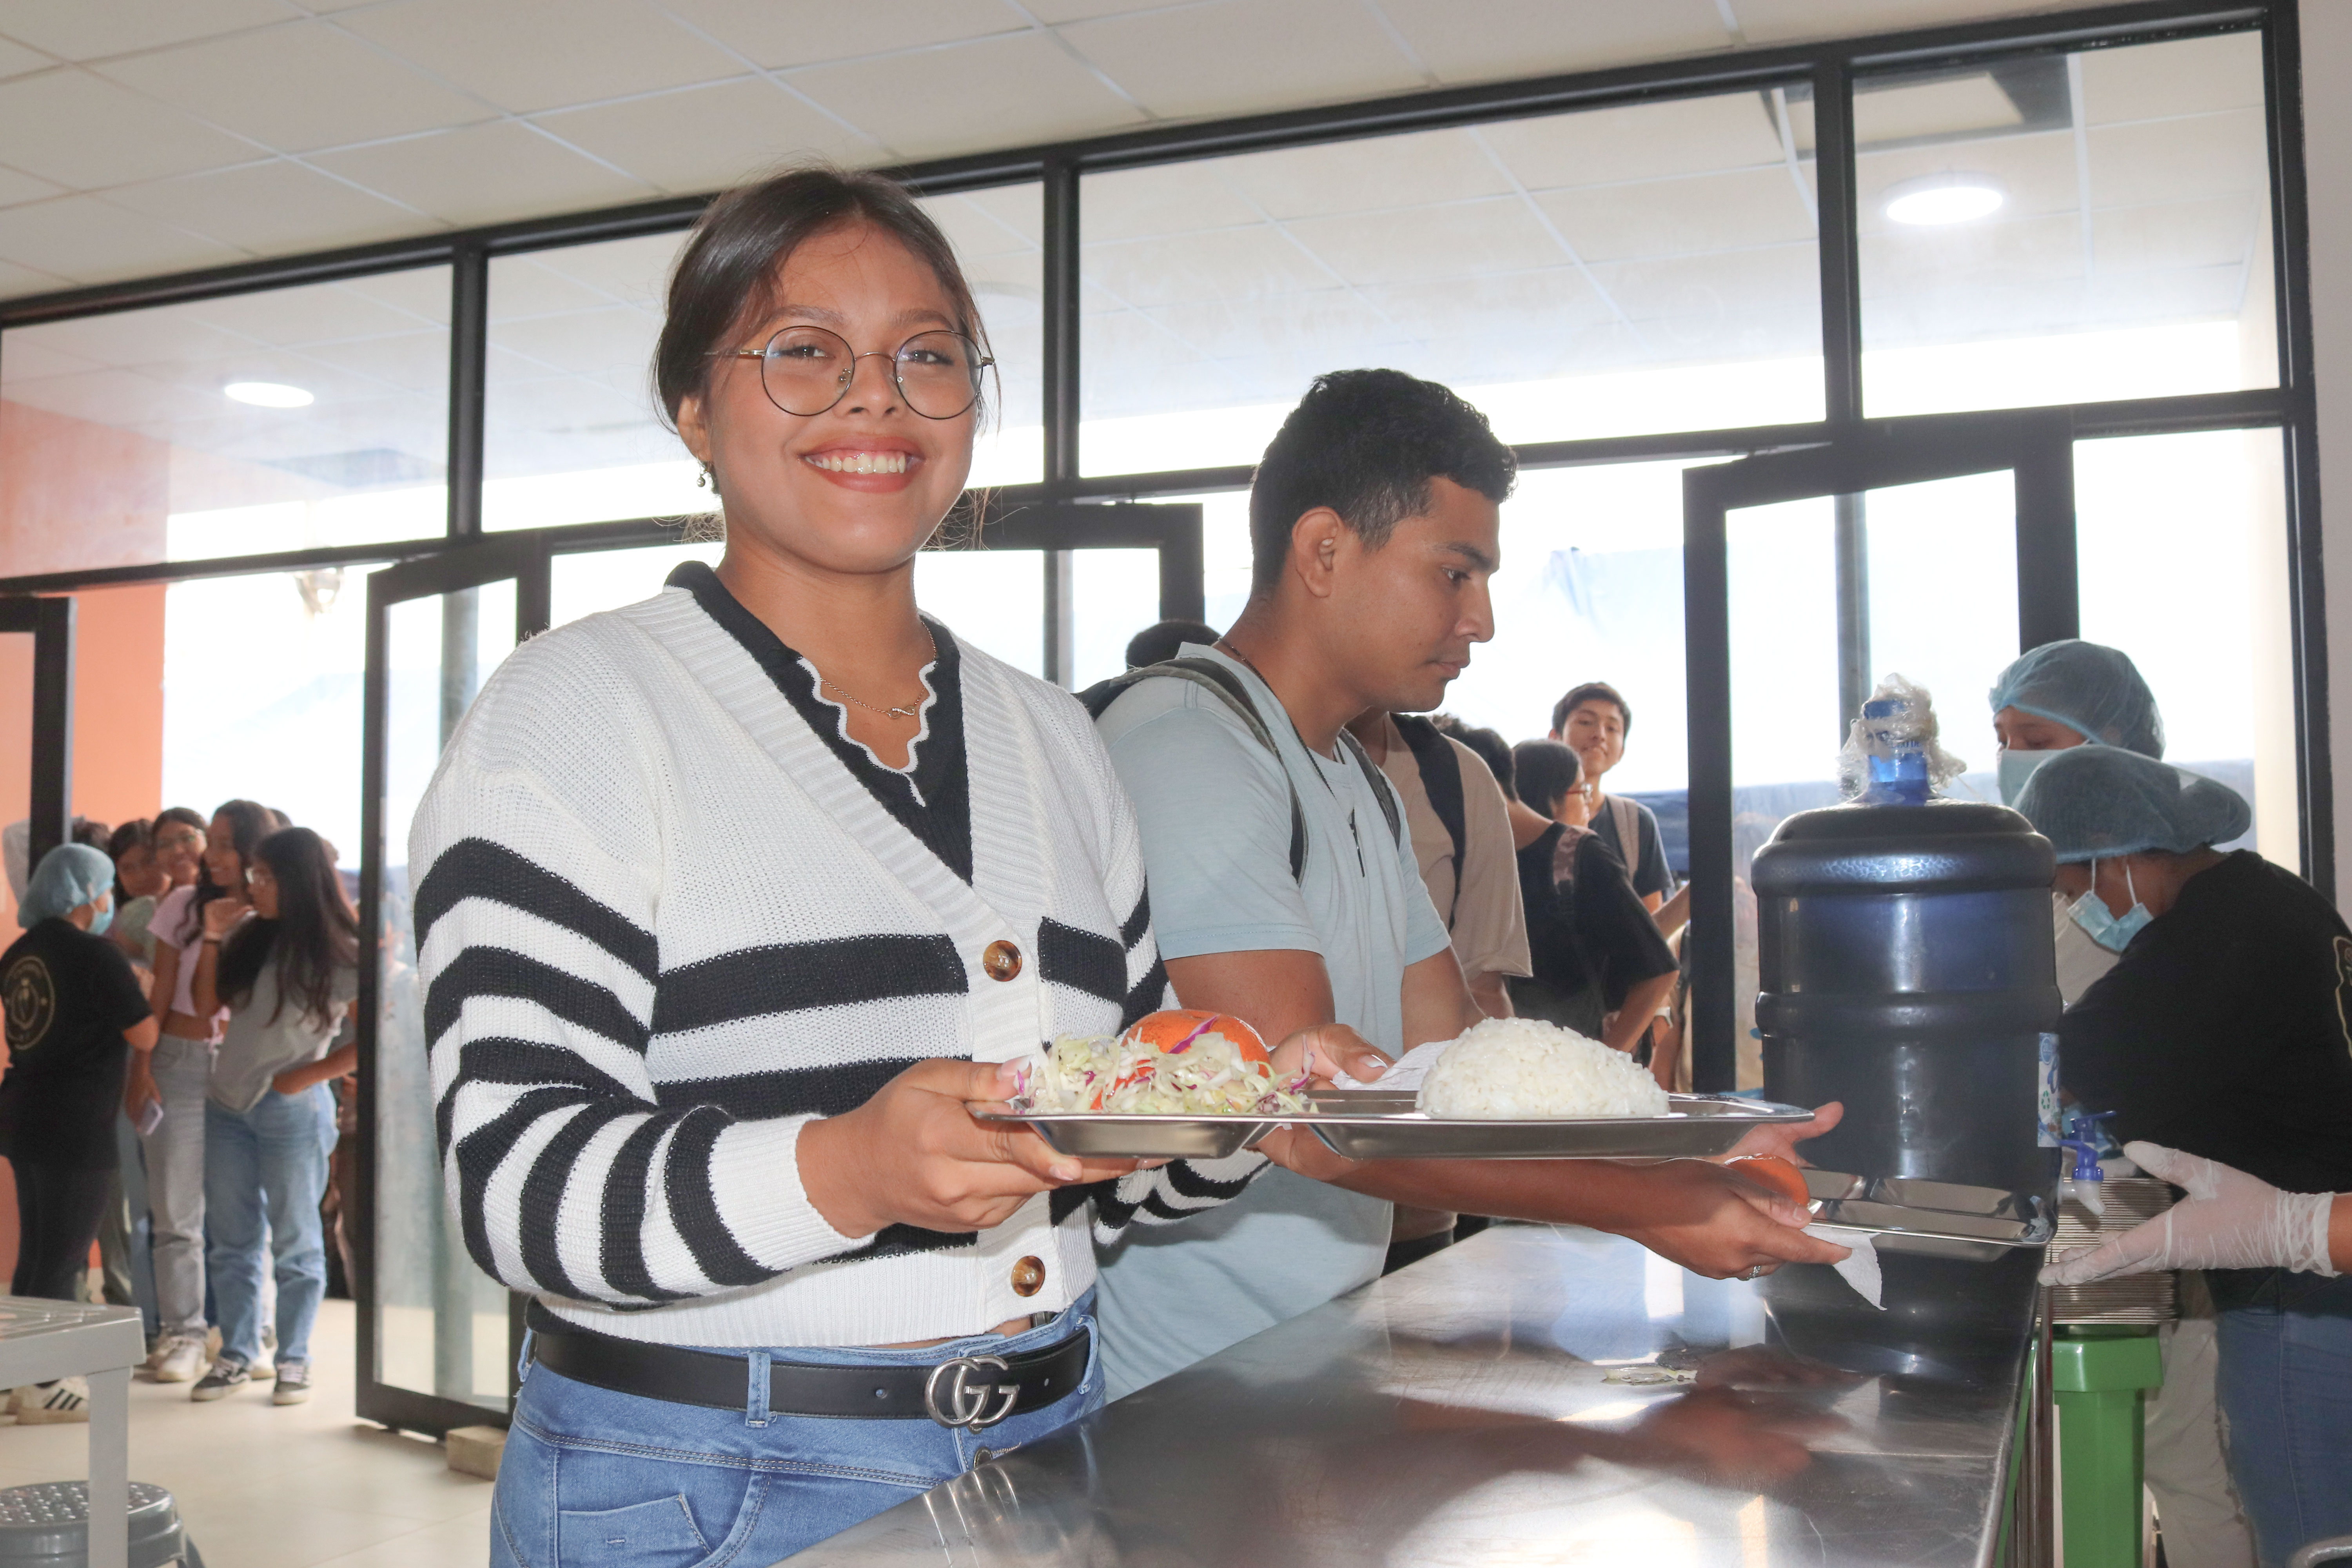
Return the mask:
POLYGON ((880 148, 764 78, 539 115, 572 146, 661 190, 724 190, 802 158, 873 162, 880 148))

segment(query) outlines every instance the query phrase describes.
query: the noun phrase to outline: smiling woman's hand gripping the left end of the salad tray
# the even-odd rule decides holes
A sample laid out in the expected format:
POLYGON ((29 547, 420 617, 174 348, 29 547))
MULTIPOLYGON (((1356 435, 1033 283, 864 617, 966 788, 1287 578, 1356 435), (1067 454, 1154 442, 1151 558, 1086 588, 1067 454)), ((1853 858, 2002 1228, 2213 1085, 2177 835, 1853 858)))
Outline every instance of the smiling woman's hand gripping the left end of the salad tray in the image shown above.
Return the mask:
POLYGON ((971 1103, 1014 1093, 1011 1063, 915 1063, 866 1105, 800 1128, 800 1185, 826 1225, 993 1229, 1051 1187, 1127 1175, 1134 1159, 1058 1154, 1023 1128, 978 1121, 971 1103))

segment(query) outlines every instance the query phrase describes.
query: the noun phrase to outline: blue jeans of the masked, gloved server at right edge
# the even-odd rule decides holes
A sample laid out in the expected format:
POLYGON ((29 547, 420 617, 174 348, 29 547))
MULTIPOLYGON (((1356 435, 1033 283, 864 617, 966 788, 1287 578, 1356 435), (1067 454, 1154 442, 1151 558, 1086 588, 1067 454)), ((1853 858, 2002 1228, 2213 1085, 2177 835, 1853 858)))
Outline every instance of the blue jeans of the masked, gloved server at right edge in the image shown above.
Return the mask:
POLYGON ((2307 1542, 2352 1535, 2352 1276, 2213 1279, 2230 1479, 2256 1552, 2277 1568, 2307 1542))

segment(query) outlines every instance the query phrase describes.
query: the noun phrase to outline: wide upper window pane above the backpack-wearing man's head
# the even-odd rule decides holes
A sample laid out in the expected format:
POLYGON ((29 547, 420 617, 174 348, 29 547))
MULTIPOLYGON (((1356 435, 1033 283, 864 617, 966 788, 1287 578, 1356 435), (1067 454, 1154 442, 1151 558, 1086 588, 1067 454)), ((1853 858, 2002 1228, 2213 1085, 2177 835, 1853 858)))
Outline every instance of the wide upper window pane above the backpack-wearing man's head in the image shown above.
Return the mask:
POLYGON ((1256 461, 1362 364, 1512 442, 1820 418, 1785 94, 1091 174, 1080 223, 1087 473, 1256 461))

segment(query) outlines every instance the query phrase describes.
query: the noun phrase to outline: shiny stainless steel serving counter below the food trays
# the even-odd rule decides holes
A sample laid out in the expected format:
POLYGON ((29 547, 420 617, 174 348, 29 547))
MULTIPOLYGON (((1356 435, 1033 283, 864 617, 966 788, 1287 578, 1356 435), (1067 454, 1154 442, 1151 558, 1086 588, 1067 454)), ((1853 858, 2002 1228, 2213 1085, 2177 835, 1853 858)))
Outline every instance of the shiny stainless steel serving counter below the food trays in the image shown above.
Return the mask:
POLYGON ((1712 1281, 1498 1227, 795 1563, 1990 1563, 2039 1255, 1712 1281))

